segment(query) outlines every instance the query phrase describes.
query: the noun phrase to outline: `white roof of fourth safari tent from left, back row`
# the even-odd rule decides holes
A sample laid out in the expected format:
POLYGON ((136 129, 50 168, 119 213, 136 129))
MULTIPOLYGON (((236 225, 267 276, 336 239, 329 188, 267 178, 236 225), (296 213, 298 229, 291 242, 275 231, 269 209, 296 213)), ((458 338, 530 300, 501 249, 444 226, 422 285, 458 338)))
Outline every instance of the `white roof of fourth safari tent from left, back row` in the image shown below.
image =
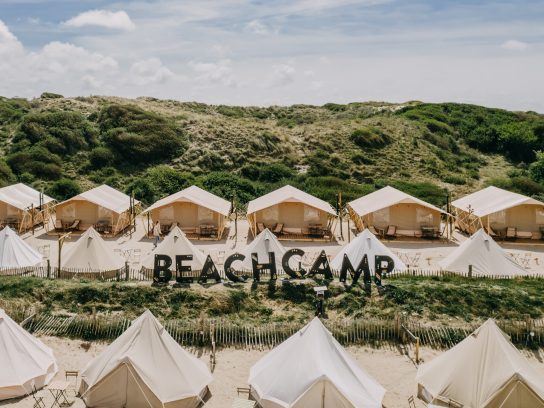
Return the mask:
POLYGON ((250 201, 247 205, 247 213, 253 214, 254 212, 285 202, 303 203, 331 215, 336 215, 334 208, 326 201, 289 185, 250 201))

